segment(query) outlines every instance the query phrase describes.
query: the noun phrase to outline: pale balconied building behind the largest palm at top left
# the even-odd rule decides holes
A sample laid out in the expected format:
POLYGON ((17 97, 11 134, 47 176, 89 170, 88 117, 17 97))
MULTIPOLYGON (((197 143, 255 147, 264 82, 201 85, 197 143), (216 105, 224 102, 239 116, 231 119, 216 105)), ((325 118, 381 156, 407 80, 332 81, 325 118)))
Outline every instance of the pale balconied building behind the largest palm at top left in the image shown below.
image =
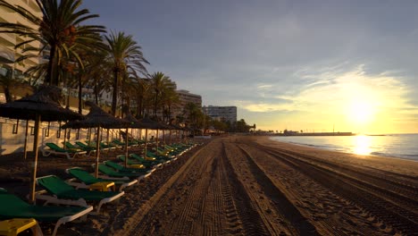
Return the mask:
MULTIPOLYGON (((42 15, 38 5, 33 0, 9 0, 8 2, 10 4, 20 5, 36 16, 42 15)), ((20 14, 14 13, 8 9, 5 9, 4 7, 0 7, 0 21, 11 23, 19 22, 24 25, 35 27, 35 25, 21 17, 20 14)), ((13 70, 15 77, 21 77, 21 79, 24 79, 23 72, 25 72, 30 66, 44 62, 43 55, 40 55, 38 58, 29 58, 19 63, 15 63, 15 59, 22 55, 21 50, 23 48, 15 49, 14 46, 26 40, 28 40, 28 38, 23 38, 17 34, 0 33, 0 72, 2 74, 5 74, 7 70, 13 70)), ((38 48, 40 47, 40 43, 38 41, 33 41, 26 46, 33 46, 38 48)), ((45 53, 47 54, 47 52, 45 53)))

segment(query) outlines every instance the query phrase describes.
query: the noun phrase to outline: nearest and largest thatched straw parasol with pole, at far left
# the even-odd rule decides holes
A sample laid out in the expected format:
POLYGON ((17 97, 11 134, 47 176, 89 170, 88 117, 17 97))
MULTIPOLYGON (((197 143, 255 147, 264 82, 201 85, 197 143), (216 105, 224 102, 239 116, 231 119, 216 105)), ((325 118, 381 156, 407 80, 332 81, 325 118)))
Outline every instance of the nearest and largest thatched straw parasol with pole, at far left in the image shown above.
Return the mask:
MULTIPOLYGON (((38 134, 39 122, 67 121, 81 119, 82 115, 64 109, 58 102, 61 89, 53 86, 41 87, 37 93, 19 100, 0 105, 0 116, 12 119, 35 121, 35 139, 33 150, 33 173, 30 185, 30 201, 35 201, 35 180, 38 165, 38 134)), ((25 139, 26 142, 26 139, 25 139)), ((26 147, 26 145, 25 145, 26 147)), ((26 150, 25 150, 26 152, 26 150)))

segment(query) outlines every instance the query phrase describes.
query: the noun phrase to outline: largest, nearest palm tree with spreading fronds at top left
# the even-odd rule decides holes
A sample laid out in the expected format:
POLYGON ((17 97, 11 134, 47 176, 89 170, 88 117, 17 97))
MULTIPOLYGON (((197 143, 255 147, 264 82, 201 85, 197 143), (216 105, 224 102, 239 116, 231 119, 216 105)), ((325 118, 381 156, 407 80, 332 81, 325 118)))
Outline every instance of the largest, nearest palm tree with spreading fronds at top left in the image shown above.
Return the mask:
MULTIPOLYGON (((63 55, 68 58, 74 57, 82 64, 75 48, 89 48, 95 46, 92 41, 99 38, 99 33, 105 32, 103 26, 80 25, 83 21, 98 17, 97 14, 90 14, 87 9, 79 10, 81 0, 36 0, 36 4, 42 13, 38 17, 19 5, 7 3, 0 0, 0 6, 12 10, 36 25, 31 28, 21 23, 1 22, 0 32, 14 33, 25 36, 28 40, 16 45, 16 48, 24 47, 23 53, 38 52, 38 55, 46 49, 50 50, 49 62, 46 69, 46 80, 48 84, 58 85, 58 66, 63 55), (38 41, 40 48, 29 46, 29 43, 38 41)), ((27 54, 18 58, 24 60, 38 55, 27 54)))

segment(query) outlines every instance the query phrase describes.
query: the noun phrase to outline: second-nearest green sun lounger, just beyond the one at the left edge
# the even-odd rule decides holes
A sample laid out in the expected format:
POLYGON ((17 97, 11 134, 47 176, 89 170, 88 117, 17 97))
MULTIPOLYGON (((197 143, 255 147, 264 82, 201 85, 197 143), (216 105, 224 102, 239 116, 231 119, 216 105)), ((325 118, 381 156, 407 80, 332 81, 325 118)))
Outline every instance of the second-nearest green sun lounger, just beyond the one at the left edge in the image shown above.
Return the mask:
MULTIPOLYGON (((97 191, 97 190, 76 190, 65 181, 61 180, 55 175, 47 175, 44 177, 37 178, 38 185, 42 186, 52 196, 37 195, 36 198, 42 198, 47 202, 67 202, 68 200, 77 200, 79 202, 87 201, 98 202, 96 213, 100 211, 100 207, 104 203, 112 202, 117 198, 121 198, 125 192, 114 192, 114 191, 97 191)), ((83 203, 84 204, 84 203, 83 203)))

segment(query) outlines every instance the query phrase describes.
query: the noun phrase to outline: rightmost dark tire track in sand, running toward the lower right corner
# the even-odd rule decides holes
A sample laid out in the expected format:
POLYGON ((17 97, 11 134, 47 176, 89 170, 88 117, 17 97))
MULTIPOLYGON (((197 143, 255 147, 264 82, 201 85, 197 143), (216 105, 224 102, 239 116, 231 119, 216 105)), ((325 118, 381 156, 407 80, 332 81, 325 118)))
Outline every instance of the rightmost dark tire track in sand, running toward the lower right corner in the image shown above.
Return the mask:
MULTIPOLYGON (((394 228, 397 232, 407 235, 414 235, 417 232, 418 215, 415 211, 416 206, 405 204, 405 193, 400 193, 397 196, 387 190, 384 185, 376 188, 372 186, 372 183, 361 181, 361 176, 350 176, 333 171, 320 164, 315 164, 312 160, 306 161, 304 156, 290 155, 288 152, 272 149, 271 147, 260 148, 289 165, 297 166, 301 172, 322 183, 332 192, 347 198, 355 205, 370 212, 372 218, 377 217, 378 221, 381 222, 379 223, 380 227, 394 228), (339 184, 336 185, 336 182, 339 182, 339 184), (388 196, 390 196, 390 199, 388 199, 388 196)), ((410 200, 414 201, 414 198, 410 200)))

